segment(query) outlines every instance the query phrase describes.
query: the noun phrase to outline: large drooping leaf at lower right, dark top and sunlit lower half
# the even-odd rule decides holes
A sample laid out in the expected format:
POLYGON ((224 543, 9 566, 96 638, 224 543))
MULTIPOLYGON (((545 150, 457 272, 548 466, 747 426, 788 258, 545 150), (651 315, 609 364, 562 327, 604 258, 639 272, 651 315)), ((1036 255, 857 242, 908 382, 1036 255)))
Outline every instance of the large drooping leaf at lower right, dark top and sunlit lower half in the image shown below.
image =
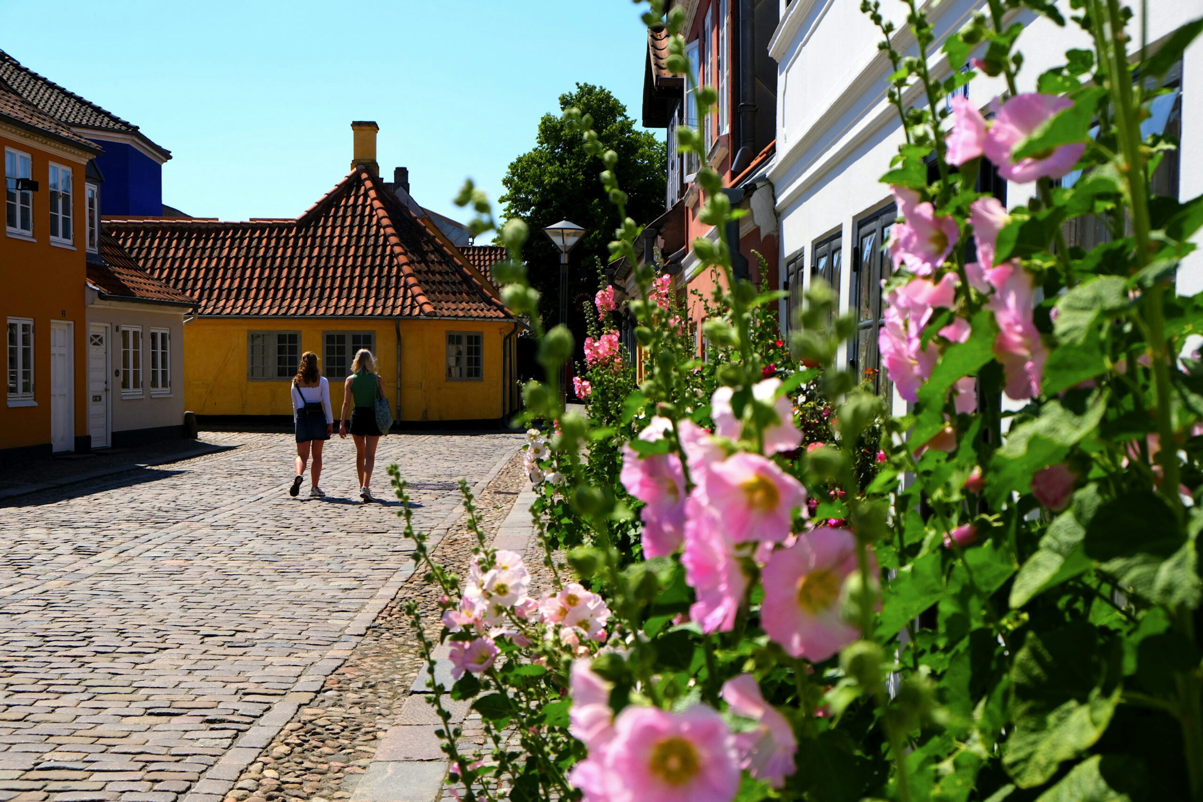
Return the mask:
POLYGON ((1019 788, 1047 783, 1107 730, 1121 693, 1116 647, 1084 623, 1029 630, 1012 667, 1014 730, 1002 756, 1019 788))

